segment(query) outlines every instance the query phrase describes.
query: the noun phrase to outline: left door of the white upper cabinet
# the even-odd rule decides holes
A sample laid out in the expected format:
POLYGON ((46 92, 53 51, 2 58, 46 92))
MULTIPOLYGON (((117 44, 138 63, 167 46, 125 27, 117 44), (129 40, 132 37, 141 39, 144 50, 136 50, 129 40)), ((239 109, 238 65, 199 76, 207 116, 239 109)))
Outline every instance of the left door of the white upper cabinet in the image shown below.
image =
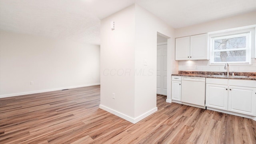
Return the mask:
POLYGON ((175 39, 175 60, 190 59, 190 36, 175 39))

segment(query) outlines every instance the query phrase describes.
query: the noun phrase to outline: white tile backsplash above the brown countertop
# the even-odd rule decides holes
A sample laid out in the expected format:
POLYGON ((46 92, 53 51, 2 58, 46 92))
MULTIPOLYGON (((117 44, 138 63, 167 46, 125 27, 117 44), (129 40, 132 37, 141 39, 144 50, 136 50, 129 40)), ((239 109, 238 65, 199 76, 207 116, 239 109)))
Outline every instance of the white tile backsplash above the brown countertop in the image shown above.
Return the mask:
MULTIPOLYGON (((251 65, 229 65, 230 72, 256 72, 256 59, 252 58, 251 65)), ((178 70, 182 71, 217 71, 226 72, 224 65, 209 65, 209 60, 179 61, 178 70)))

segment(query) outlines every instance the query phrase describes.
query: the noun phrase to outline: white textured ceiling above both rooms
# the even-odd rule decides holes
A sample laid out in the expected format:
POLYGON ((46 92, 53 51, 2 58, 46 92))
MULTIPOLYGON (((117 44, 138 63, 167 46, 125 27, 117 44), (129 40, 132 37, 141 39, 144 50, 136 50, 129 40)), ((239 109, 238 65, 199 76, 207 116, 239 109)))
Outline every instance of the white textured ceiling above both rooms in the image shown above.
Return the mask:
POLYGON ((134 3, 173 28, 256 11, 256 0, 0 0, 0 29, 100 45, 100 19, 134 3))

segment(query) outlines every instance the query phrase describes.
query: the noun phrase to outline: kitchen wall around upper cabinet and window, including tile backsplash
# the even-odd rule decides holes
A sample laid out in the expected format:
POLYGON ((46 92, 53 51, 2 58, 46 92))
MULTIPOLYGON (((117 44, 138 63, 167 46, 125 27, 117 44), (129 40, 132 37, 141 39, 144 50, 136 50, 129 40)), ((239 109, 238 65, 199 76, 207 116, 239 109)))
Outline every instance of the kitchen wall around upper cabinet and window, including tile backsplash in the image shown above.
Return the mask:
MULTIPOLYGON (((210 22, 205 22, 202 24, 196 24, 192 26, 187 26, 184 28, 178 28, 175 30, 175 37, 190 36, 195 34, 202 33, 211 33, 215 31, 222 31, 228 29, 246 27, 256 24, 256 12, 249 12, 246 14, 241 14, 237 16, 232 16, 228 18, 222 18, 219 20, 214 20, 210 22)), ((255 34, 252 35, 252 40, 255 40, 255 34)), ((255 62, 255 42, 252 42, 251 56, 252 63, 251 65, 230 65, 230 71, 234 72, 256 72, 256 62, 255 62)), ((199 60, 199 61, 179 61, 178 62, 179 70, 187 71, 220 71, 226 72, 224 70, 224 65, 209 65, 208 60, 199 60)))

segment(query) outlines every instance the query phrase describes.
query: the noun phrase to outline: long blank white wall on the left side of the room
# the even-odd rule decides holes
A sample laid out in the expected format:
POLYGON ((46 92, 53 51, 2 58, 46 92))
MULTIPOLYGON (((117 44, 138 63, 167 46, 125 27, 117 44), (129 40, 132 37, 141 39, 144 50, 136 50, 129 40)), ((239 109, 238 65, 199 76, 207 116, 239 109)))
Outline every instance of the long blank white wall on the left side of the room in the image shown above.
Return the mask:
POLYGON ((100 84, 100 46, 1 31, 0 52, 1 98, 100 84))

